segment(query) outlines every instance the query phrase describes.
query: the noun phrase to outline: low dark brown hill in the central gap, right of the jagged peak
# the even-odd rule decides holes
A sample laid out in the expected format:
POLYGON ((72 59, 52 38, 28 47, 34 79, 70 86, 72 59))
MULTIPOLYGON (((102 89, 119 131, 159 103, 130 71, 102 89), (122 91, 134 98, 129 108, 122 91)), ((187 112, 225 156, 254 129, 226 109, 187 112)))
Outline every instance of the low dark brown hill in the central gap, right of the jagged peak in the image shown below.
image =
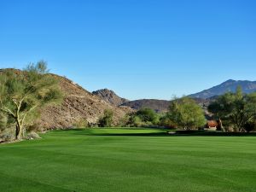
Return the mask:
POLYGON ((157 99, 141 99, 131 102, 125 102, 121 106, 127 106, 133 109, 141 108, 152 108, 155 112, 161 113, 166 112, 169 108, 170 101, 166 100, 157 100, 157 99))

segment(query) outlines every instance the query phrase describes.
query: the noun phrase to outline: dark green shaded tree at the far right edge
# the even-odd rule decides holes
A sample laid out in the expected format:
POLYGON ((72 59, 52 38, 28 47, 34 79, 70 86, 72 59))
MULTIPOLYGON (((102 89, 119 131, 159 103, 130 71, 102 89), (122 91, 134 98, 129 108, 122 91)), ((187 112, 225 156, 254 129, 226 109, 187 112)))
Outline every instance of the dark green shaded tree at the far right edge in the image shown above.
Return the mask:
POLYGON ((238 131, 244 131, 247 124, 256 119, 256 93, 244 95, 241 87, 238 87, 236 93, 218 96, 210 103, 208 110, 238 131))

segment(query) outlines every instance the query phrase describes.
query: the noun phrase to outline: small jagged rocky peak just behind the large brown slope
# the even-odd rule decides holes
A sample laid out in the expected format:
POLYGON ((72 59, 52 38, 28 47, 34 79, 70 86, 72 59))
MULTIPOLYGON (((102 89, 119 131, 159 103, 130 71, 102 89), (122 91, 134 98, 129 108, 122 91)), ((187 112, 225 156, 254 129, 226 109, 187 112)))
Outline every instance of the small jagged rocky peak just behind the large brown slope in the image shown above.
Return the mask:
POLYGON ((92 92, 93 95, 99 96, 105 102, 112 104, 113 106, 119 106, 124 102, 129 102, 128 99, 122 98, 113 92, 113 90, 103 89, 92 92))

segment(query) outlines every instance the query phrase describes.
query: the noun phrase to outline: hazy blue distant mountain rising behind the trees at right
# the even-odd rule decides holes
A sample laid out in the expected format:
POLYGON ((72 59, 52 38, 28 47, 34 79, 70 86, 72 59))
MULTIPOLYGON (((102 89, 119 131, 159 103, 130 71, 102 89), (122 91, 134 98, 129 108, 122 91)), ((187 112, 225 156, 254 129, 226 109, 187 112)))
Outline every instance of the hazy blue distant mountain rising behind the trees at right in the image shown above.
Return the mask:
POLYGON ((256 91, 256 81, 241 81, 241 80, 228 80, 225 81, 222 84, 218 84, 217 86, 214 86, 208 90, 203 90, 199 93, 195 93, 192 95, 189 95, 190 97, 193 98, 201 98, 201 99, 207 99, 210 98, 212 96, 220 96, 223 95, 226 92, 235 92, 236 88, 238 86, 241 86, 241 90, 244 93, 252 93, 254 91, 256 91))

